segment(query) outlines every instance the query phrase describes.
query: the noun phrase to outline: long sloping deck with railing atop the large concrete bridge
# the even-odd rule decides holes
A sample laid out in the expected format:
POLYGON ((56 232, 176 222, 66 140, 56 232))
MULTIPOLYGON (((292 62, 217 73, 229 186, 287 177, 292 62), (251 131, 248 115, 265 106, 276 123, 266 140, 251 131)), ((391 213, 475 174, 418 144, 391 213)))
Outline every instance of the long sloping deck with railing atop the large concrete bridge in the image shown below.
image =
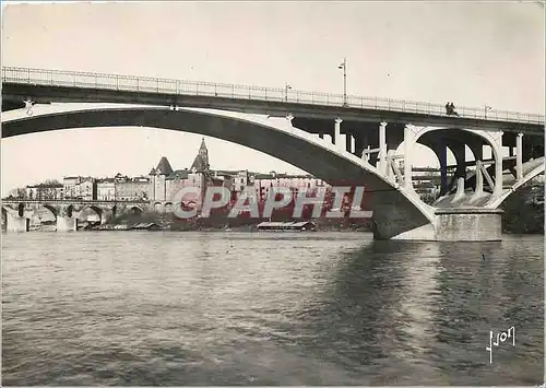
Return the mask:
MULTIPOLYGON (((425 124, 428 122, 427 118, 435 118, 434 122, 429 122, 432 125, 440 120, 452 125, 479 124, 484 127, 501 126, 508 129, 530 125, 544 127, 545 124, 544 115, 486 110, 485 107, 458 106, 459 116, 455 117, 448 116, 442 104, 424 102, 348 95, 347 104, 344 104, 342 94, 14 67, 2 67, 2 89, 4 99, 20 98, 24 93, 34 92, 33 98, 38 102, 39 97, 49 96, 55 97, 56 102, 179 105, 254 114, 306 111, 311 115, 322 111, 328 115, 363 116, 365 113, 376 113, 375 116, 380 117, 384 113, 391 113, 419 118, 425 124), (79 94, 78 90, 84 93, 79 94), (264 109, 264 103, 268 103, 269 109, 264 109)), ((542 129, 544 132, 544 128, 542 129)))

